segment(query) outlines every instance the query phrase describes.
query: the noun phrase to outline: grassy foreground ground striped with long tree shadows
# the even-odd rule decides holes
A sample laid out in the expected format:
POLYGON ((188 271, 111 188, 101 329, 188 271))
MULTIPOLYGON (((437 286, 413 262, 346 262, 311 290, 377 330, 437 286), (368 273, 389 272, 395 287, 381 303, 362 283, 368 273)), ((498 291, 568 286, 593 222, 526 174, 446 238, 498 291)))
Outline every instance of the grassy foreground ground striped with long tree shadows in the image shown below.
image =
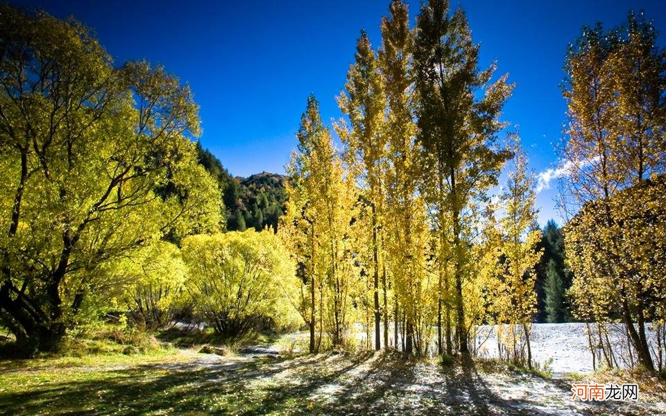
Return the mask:
MULTIPOLYGON (((534 406, 576 410, 567 385, 506 372, 506 365, 504 372, 495 372, 499 365, 456 358, 443 367, 392 352, 248 358, 180 349, 1 361, 0 414, 531 415, 534 406)), ((631 406, 632 414, 656 413, 631 406)), ((601 410, 591 413, 618 413, 601 410)))

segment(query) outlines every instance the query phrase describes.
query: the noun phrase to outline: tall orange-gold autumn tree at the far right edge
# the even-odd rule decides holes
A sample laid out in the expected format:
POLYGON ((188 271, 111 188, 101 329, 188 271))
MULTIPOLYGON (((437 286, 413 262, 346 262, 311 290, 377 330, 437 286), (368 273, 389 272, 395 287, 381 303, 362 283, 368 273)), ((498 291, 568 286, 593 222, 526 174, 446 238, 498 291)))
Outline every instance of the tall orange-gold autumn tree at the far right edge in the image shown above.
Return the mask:
POLYGON ((583 28, 570 46, 565 69, 569 125, 563 157, 570 168, 565 191, 568 207, 581 209, 567 225, 566 237, 578 313, 592 313, 604 322, 616 311, 640 364, 654 371, 645 324, 654 307, 646 288, 655 282, 653 275, 637 271, 652 257, 636 257, 642 251, 640 239, 633 239, 648 221, 629 228, 629 218, 642 216, 643 209, 617 202, 629 187, 638 193, 633 201, 648 198, 640 195, 651 189, 644 182, 664 170, 666 53, 656 46, 649 21, 630 13, 621 28, 583 28), (592 223, 595 237, 583 239, 592 223), (604 295, 590 293, 595 287, 603 288, 604 295))

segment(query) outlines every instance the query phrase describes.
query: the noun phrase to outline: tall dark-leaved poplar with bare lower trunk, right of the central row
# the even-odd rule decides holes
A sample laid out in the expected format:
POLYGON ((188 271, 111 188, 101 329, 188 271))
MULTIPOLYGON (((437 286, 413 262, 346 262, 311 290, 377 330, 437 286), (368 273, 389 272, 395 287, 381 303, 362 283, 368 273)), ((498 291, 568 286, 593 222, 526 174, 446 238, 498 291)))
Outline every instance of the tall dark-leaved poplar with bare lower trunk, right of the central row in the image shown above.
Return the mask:
POLYGON ((450 14, 445 0, 422 6, 413 67, 418 140, 430 182, 424 193, 439 213, 438 232, 450 244, 456 337, 460 352, 465 354, 469 348, 463 281, 469 276, 471 244, 465 227, 474 222, 470 206, 497 183, 499 169, 508 157, 497 148, 497 133, 504 126, 498 120, 499 113, 512 89, 506 76, 490 83, 495 65, 480 71, 478 55, 479 46, 472 42, 461 9, 450 14), (484 96, 477 98, 479 93, 484 96), (443 227, 445 223, 450 224, 448 229, 443 227))

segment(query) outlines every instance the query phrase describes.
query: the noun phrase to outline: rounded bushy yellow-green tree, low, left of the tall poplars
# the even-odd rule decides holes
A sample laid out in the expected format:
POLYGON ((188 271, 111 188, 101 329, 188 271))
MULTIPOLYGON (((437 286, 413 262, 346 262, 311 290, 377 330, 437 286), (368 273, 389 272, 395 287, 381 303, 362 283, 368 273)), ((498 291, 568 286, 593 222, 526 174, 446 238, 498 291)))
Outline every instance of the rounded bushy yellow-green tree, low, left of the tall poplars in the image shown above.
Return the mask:
MULTIPOLYGON (((217 333, 244 336, 258 324, 298 327, 285 291, 298 287, 289 252, 271 232, 189 236, 182 242, 195 313, 217 333)), ((300 321, 300 322, 299 322, 300 321)))

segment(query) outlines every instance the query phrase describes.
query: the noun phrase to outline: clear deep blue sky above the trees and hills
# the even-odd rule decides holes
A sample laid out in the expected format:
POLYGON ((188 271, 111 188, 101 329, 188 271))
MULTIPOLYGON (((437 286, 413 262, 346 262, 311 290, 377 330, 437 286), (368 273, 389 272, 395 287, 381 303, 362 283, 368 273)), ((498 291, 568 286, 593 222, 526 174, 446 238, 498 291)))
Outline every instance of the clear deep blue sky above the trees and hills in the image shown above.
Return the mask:
MULTIPOLYGON (((281 173, 289 161, 300 114, 311 92, 324 120, 337 119, 335 96, 345 83, 361 28, 379 44, 379 1, 66 1, 10 3, 74 16, 96 31, 117 63, 147 59, 191 85, 200 105, 204 147, 232 175, 281 173)), ((517 126, 536 173, 556 164, 565 101, 559 85, 568 42, 584 24, 622 23, 644 10, 666 44, 663 1, 460 0, 481 64, 517 83, 504 119, 517 126)), ((420 1, 409 1, 412 21, 420 1)), ((538 195, 539 222, 558 218, 555 187, 538 195)))

